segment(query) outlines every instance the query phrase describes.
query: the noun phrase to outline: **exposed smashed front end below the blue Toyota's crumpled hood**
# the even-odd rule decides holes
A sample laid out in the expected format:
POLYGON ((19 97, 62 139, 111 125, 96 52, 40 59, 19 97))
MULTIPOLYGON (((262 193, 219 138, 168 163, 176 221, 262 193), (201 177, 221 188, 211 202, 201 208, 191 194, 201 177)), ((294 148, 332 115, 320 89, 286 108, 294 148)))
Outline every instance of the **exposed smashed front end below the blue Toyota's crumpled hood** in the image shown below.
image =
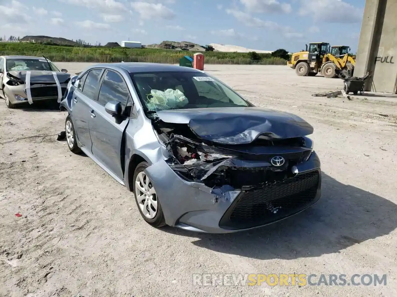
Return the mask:
POLYGON ((166 123, 153 116, 152 125, 172 155, 167 163, 173 171, 213 189, 227 185, 251 190, 295 177, 296 165, 312 152, 307 137, 259 136, 249 144, 225 145, 202 139, 188 124, 166 123), (285 162, 273 166, 270 160, 274 156, 283 156, 285 162))

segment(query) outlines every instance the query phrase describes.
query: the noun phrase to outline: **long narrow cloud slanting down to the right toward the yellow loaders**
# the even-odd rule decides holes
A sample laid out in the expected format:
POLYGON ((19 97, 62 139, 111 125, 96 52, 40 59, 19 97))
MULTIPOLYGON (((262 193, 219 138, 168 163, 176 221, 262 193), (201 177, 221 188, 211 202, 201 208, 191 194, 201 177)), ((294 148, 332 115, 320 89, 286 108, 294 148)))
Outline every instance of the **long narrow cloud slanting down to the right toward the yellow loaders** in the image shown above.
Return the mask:
POLYGON ((283 34, 285 38, 303 37, 303 33, 295 32, 295 30, 291 27, 282 26, 272 21, 263 21, 257 17, 252 17, 249 13, 243 11, 227 9, 226 13, 233 15, 233 17, 235 17, 238 21, 249 27, 265 28, 271 31, 279 32, 280 34, 283 34))

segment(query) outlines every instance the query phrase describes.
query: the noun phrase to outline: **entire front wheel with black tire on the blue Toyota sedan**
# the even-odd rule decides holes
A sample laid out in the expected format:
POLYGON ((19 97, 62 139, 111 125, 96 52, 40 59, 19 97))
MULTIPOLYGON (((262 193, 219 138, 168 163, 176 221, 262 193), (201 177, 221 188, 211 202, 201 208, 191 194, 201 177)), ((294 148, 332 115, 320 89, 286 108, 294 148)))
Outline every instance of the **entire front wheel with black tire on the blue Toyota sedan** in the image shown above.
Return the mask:
POLYGON ((137 203, 139 213, 141 213, 146 223, 152 227, 160 228, 166 226, 166 221, 152 181, 148 179, 148 176, 144 172, 148 167, 149 164, 147 162, 141 162, 135 168, 133 179, 135 202, 137 203), (145 185, 146 179, 148 179, 147 186, 145 185), (137 183, 139 183, 140 188, 137 187, 137 183))

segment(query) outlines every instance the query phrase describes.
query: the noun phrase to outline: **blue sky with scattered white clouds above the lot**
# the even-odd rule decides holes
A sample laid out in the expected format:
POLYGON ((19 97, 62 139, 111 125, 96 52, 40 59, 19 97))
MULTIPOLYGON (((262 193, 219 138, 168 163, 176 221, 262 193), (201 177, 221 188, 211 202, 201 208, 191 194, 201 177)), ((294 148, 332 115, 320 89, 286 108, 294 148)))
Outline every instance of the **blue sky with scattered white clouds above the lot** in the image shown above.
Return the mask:
POLYGON ((46 35, 102 45, 121 40, 357 50, 364 0, 0 0, 0 36, 46 35))

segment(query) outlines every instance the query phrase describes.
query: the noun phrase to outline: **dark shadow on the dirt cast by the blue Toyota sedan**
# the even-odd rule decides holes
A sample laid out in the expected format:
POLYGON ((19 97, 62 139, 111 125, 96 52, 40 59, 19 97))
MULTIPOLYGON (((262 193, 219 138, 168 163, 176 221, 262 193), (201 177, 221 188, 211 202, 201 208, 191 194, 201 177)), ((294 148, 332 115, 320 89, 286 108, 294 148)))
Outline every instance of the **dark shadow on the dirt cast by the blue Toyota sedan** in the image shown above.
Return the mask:
MULTIPOLYGON (((341 250, 389 234, 397 227, 397 205, 344 185, 322 173, 322 198, 307 209, 266 227, 231 234, 193 233, 164 228, 175 235, 199 238, 195 246, 254 259, 297 259, 341 250)), ((163 229, 162 229, 163 230, 163 229)))

